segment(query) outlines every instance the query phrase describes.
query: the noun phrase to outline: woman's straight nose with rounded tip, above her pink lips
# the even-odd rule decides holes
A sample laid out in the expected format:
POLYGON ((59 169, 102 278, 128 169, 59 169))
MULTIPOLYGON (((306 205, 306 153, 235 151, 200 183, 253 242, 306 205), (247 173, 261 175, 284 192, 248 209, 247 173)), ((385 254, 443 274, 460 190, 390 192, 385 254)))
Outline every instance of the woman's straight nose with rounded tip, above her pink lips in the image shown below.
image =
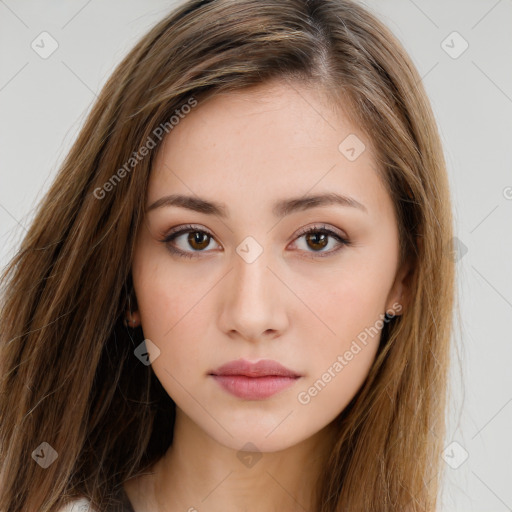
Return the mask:
POLYGON ((290 291, 273 266, 266 251, 252 263, 234 254, 233 268, 221 290, 219 317, 219 326, 229 337, 257 342, 277 338, 286 330, 290 291))

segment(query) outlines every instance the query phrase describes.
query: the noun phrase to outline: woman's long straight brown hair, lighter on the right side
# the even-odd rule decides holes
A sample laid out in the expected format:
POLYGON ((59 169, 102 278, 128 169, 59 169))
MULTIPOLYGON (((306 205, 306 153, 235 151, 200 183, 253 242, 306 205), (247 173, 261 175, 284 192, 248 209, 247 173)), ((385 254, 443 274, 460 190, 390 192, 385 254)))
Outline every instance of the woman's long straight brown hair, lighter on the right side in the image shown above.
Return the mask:
POLYGON ((408 308, 383 329, 368 378, 337 418, 316 511, 435 509, 454 259, 421 78, 353 1, 189 0, 116 68, 3 272, 0 511, 54 511, 80 495, 110 510, 115 489, 172 443, 174 402, 134 356, 141 328, 122 321, 156 134, 171 132, 184 105, 271 79, 321 85, 350 111, 376 148, 412 268, 408 308), (49 450, 41 443, 58 455, 47 468, 33 456, 49 450))

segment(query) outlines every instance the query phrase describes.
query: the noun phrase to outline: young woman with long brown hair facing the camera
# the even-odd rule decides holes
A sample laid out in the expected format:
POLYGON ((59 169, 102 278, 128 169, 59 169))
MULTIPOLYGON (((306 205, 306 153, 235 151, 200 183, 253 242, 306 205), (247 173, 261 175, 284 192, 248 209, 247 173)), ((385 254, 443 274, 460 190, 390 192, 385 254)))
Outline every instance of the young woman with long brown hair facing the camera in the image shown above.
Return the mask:
POLYGON ((451 240, 435 119, 373 15, 182 4, 3 275, 0 510, 433 511, 451 240))

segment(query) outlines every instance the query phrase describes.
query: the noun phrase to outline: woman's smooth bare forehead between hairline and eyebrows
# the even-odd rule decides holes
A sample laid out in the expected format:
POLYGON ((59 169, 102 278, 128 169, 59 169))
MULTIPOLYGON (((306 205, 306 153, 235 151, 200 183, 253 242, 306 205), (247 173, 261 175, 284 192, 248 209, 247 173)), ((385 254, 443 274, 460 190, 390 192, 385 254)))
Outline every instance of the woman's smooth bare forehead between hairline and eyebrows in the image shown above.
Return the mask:
POLYGON ((339 192, 389 209, 371 141, 311 87, 271 82, 200 102, 166 136, 148 204, 183 193, 248 207, 286 196, 339 192), (348 153, 344 151, 355 149, 348 153), (364 149, 363 149, 364 148, 364 149))

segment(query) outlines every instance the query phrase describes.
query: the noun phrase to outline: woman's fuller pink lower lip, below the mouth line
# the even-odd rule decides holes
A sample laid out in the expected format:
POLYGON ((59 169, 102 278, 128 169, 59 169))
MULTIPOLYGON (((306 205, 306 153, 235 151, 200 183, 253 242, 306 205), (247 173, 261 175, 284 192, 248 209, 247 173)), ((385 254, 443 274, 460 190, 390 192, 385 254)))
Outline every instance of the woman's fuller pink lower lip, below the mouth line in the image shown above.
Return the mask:
POLYGON ((298 377, 246 377, 244 375, 212 375, 229 393, 246 400, 262 400, 292 386, 298 377))

